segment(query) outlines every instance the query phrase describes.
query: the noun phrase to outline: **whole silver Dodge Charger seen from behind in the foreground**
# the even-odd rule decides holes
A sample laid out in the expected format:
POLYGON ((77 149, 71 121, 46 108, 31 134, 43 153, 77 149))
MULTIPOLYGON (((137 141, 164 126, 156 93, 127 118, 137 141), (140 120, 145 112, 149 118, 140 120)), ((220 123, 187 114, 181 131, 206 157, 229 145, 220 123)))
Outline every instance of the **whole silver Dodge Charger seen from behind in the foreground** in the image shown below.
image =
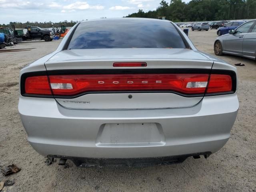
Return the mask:
POLYGON ((236 68, 168 20, 83 21, 20 71, 18 110, 43 156, 76 166, 207 158, 230 137, 236 68))

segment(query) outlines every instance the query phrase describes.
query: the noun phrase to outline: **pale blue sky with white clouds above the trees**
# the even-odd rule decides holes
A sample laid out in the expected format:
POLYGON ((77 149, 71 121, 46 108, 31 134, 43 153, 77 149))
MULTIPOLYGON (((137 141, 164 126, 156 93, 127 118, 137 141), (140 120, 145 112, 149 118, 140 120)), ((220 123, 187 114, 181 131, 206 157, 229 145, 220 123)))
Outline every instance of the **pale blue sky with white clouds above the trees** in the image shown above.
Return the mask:
POLYGON ((144 12, 155 10, 160 2, 161 0, 0 0, 0 24, 117 18, 139 9, 144 12))

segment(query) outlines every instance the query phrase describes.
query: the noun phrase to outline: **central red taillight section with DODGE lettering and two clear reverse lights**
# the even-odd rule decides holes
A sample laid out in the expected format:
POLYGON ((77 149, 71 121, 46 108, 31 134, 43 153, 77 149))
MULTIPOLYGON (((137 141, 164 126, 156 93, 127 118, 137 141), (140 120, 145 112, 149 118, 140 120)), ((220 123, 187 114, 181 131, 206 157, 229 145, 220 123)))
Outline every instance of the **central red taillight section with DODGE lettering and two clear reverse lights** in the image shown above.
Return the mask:
POLYGON ((208 74, 100 74, 49 76, 54 95, 76 95, 90 91, 154 91, 203 94, 208 74))

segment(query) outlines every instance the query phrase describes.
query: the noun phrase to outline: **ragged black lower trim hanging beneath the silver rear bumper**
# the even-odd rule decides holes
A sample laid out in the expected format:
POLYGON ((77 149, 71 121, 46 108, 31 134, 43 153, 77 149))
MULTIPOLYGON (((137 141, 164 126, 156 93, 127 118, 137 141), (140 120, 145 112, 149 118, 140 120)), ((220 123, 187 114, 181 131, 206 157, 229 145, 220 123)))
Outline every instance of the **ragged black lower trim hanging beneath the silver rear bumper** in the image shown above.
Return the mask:
POLYGON ((204 158, 208 158, 212 152, 200 152, 175 156, 164 157, 149 157, 149 158, 86 158, 86 157, 73 157, 62 155, 48 155, 47 158, 54 160, 54 158, 69 159, 80 168, 87 168, 92 166, 128 166, 128 167, 146 167, 156 165, 170 165, 182 163, 188 157, 193 156, 195 159, 200 158, 203 155, 204 158))

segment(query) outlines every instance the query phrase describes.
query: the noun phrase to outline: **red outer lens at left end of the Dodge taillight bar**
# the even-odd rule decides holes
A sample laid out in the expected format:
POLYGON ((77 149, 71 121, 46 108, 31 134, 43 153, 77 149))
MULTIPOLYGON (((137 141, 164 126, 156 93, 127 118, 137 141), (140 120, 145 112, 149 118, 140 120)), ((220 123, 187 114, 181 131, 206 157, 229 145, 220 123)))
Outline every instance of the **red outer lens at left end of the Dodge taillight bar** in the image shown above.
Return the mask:
POLYGON ((28 77, 25 81, 25 93, 37 95, 51 95, 47 76, 28 77))

